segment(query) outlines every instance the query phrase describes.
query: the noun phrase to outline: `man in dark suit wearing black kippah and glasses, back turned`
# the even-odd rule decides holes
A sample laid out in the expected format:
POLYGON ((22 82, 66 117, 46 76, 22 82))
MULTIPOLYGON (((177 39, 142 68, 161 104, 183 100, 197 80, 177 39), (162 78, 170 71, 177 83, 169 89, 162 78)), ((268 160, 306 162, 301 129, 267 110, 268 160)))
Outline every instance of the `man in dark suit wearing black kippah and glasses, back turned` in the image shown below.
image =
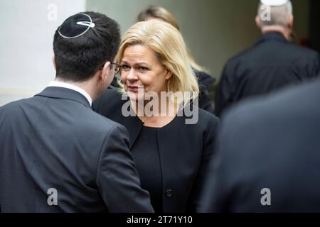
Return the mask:
POLYGON ((1 212, 152 212, 127 130, 91 109, 112 82, 119 26, 78 13, 55 32, 56 79, 0 108, 1 212))

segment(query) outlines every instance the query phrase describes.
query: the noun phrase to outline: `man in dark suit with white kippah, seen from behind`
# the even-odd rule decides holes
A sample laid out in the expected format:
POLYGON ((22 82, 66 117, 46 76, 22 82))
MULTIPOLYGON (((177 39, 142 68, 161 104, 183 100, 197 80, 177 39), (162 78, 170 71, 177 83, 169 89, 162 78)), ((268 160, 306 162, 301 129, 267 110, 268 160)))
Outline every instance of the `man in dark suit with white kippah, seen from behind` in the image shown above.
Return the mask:
POLYGON ((262 37, 228 61, 215 96, 218 116, 230 105, 316 77, 319 54, 289 43, 293 27, 288 0, 262 0, 256 23, 262 37))

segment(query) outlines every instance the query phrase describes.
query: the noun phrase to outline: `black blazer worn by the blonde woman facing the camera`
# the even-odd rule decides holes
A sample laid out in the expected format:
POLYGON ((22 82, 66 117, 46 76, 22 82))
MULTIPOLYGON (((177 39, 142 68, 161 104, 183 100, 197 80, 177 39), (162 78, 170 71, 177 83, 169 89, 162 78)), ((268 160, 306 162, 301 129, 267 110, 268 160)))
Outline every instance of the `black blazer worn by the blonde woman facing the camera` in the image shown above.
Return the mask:
MULTIPOLYGON (((122 116, 121 95, 105 91, 93 104, 97 113, 122 124, 129 131, 130 147, 139 137, 143 123, 137 116, 122 116)), ((199 109, 198 123, 186 125, 186 116, 174 121, 171 131, 158 135, 162 163, 163 211, 165 213, 198 211, 208 165, 213 160, 216 131, 220 121, 199 109)))

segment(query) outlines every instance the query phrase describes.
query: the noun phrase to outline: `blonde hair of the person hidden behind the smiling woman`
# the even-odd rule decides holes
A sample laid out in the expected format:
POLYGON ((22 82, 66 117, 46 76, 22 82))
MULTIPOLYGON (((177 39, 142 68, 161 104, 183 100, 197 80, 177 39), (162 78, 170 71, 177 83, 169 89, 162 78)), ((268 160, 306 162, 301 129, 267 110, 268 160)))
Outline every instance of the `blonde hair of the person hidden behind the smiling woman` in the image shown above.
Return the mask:
MULTIPOLYGON (((174 15, 172 15, 169 11, 167 11, 163 7, 149 6, 149 8, 139 13, 137 21, 138 22, 149 21, 151 18, 159 18, 162 21, 165 21, 166 23, 170 23, 171 26, 174 26, 174 28, 180 31, 180 27, 178 26, 178 22, 176 21, 176 18, 174 17, 174 15)), ((188 47, 187 47, 187 53, 188 53, 188 62, 191 64, 191 67, 193 67, 193 69, 198 71, 203 71, 203 72, 207 71, 204 67, 196 63, 196 60, 194 60, 194 57, 191 54, 191 50, 188 47)))

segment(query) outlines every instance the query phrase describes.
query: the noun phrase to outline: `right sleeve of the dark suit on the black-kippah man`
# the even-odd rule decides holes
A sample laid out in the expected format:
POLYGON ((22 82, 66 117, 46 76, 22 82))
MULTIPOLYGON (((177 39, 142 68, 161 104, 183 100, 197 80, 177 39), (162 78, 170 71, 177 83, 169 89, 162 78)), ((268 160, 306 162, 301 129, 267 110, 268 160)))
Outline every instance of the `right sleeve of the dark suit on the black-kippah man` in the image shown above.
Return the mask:
POLYGON ((105 139, 97 168, 97 187, 110 212, 154 212, 149 193, 140 187, 123 126, 114 126, 105 139))

